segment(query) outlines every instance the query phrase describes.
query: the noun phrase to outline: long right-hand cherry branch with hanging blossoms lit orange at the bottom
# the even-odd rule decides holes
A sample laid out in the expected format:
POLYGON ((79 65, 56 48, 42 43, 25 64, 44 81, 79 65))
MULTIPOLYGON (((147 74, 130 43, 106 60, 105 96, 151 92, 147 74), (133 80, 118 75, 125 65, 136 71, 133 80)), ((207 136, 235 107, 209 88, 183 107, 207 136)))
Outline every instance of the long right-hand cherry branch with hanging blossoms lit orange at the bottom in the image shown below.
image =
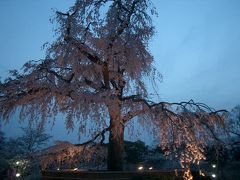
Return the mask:
POLYGON ((225 144, 219 133, 226 133, 222 114, 226 110, 215 111, 206 104, 195 103, 193 100, 153 103, 139 95, 123 97, 121 100, 129 103, 130 107, 136 104, 140 107, 137 110, 133 108, 125 115, 125 123, 145 113, 153 115, 152 121, 159 126, 161 148, 166 155, 179 157, 185 172, 190 172, 191 163, 199 164, 206 159, 204 148, 209 142, 225 144))

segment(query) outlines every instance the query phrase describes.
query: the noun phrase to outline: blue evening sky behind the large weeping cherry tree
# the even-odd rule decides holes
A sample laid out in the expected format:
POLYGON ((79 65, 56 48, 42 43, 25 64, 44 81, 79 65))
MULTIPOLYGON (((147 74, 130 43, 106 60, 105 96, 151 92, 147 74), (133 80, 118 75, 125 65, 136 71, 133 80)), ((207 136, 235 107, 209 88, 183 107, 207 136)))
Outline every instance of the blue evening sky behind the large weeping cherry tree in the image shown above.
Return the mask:
MULTIPOLYGON (((41 49, 54 40, 49 18, 74 0, 0 0, 0 76, 44 57, 41 49)), ((216 109, 240 104, 240 1, 153 0, 158 17, 150 42, 156 67, 163 75, 160 100, 193 99, 216 109)), ((151 90, 151 89, 150 89, 151 90)), ((59 117, 61 119, 61 117, 59 117)), ((17 117, 3 130, 14 136, 17 117), (14 129, 14 131, 13 131, 14 129)), ((65 138, 63 120, 52 133, 65 138)), ((74 132, 75 133, 75 132, 74 132)), ((76 134, 66 140, 76 141, 76 134)), ((145 139, 148 141, 148 139, 145 139)))

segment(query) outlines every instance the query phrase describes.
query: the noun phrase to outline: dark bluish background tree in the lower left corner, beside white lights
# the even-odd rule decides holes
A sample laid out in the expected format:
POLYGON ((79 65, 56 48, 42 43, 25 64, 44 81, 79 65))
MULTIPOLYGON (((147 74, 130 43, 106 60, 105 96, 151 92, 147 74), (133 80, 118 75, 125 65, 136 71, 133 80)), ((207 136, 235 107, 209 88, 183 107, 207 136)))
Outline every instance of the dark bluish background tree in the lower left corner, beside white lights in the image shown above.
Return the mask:
MULTIPOLYGON (((2 138, 0 143, 0 174, 6 178, 9 169, 21 176, 39 175, 40 151, 51 136, 36 127, 22 128, 23 135, 17 138, 2 138), (4 173, 1 173, 4 172, 4 173)), ((0 132, 0 138, 3 133, 0 132)), ((3 179, 4 179, 3 178, 3 179)))

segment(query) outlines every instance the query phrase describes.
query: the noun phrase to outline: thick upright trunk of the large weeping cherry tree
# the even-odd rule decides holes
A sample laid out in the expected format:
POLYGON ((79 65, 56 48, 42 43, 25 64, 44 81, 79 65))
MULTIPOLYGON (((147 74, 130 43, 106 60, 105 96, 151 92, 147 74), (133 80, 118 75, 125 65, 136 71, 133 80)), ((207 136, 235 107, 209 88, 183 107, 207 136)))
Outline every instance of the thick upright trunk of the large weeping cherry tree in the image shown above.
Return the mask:
POLYGON ((108 145, 108 171, 123 170, 124 124, 120 115, 120 106, 109 108, 110 134, 108 145))

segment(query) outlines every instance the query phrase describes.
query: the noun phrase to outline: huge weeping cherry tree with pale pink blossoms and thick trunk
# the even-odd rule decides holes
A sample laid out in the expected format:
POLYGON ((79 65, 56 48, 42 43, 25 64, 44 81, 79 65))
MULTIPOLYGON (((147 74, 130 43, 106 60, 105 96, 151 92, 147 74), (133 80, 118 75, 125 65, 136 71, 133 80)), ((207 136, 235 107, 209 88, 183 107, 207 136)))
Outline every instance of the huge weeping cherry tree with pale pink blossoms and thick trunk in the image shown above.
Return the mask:
MULTIPOLYGON (((42 60, 27 62, 0 84, 0 115, 7 121, 65 115, 66 128, 102 143, 109 132, 108 170, 123 170, 124 129, 141 119, 159 133, 166 154, 177 153, 182 166, 204 159, 204 147, 219 141, 223 111, 202 103, 149 100, 146 79, 161 78, 148 42, 154 34, 147 0, 76 0, 67 12, 56 12, 56 40, 42 60)), ((54 120, 53 120, 54 121, 54 120)), ((80 135, 81 136, 81 135, 80 135)))

